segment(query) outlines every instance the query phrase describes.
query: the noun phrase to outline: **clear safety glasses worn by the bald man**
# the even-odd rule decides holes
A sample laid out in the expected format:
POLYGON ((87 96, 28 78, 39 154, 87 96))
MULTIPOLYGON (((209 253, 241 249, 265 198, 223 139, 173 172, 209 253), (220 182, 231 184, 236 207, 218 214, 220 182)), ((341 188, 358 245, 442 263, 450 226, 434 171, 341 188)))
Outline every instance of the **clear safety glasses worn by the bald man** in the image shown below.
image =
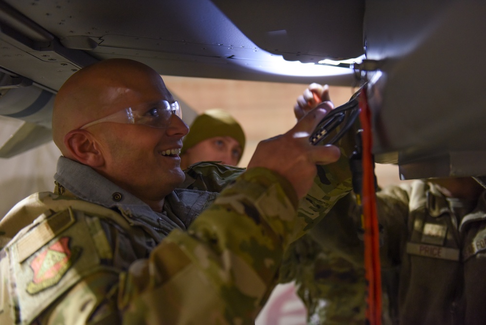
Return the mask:
POLYGON ((103 122, 144 124, 152 128, 163 129, 170 125, 173 114, 182 118, 179 102, 169 103, 167 100, 161 100, 150 105, 142 104, 135 107, 128 107, 85 124, 80 129, 86 129, 87 127, 103 122))

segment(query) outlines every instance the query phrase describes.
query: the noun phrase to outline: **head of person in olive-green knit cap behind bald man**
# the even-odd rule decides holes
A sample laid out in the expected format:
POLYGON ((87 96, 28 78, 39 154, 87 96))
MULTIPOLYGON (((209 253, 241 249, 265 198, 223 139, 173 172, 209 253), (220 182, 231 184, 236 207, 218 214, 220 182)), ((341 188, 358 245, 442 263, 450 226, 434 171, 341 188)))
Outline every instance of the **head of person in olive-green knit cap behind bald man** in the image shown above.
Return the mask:
POLYGON ((207 110, 198 115, 182 140, 180 168, 200 161, 236 166, 245 149, 245 133, 226 111, 207 110))

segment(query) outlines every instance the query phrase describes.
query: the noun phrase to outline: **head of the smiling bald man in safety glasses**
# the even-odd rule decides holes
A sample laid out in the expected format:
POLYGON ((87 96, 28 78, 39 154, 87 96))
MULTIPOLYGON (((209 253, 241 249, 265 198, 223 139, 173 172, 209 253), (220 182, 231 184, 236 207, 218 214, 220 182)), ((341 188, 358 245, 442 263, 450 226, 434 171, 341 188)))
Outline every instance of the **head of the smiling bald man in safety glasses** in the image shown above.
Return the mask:
MULTIPOLYGON (((127 71, 117 69, 121 63, 93 65, 63 85, 54 105, 54 143, 64 157, 90 166, 160 212, 164 197, 184 180, 178 153, 189 129, 163 110, 174 99, 158 74, 135 63, 127 71), (128 123, 127 108, 144 118, 160 114, 157 119, 164 123, 128 123), (126 118, 122 123, 93 123, 119 113, 126 118)), ((70 163, 61 159, 61 166, 63 162, 70 163)))

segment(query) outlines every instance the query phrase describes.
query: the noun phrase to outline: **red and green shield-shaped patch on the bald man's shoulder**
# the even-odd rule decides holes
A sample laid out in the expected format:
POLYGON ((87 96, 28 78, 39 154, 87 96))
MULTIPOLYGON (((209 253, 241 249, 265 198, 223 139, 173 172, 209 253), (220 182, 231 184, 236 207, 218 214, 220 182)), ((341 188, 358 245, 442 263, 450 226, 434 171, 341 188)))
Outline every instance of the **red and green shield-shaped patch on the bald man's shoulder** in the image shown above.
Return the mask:
POLYGON ((43 249, 32 260, 33 280, 27 285, 27 292, 35 294, 54 286, 71 268, 81 252, 80 248, 69 248, 69 237, 61 237, 47 249, 43 249))

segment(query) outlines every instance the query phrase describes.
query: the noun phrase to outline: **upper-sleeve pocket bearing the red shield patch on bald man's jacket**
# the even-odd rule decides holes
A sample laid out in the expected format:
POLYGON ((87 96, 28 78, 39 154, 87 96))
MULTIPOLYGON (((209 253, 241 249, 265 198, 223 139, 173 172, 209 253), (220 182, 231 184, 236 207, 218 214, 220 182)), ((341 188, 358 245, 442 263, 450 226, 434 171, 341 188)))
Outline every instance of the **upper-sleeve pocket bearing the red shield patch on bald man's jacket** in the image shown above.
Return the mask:
POLYGON ((61 211, 6 247, 17 305, 11 308, 19 311, 19 323, 30 324, 73 285, 104 268, 87 219, 84 211, 61 211))

